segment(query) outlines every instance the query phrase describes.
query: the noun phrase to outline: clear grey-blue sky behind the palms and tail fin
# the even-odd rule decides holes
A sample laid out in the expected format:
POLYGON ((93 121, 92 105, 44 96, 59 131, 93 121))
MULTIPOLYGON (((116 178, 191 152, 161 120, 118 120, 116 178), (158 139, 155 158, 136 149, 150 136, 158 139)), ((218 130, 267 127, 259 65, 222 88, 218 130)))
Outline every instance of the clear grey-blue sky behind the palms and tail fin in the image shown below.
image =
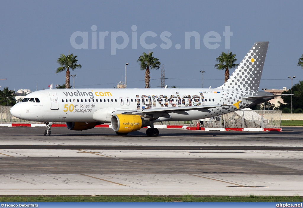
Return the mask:
MULTIPOLYGON (((56 60, 61 54, 78 56, 81 69, 76 74, 76 88, 113 88, 125 80, 127 66, 128 88, 144 88, 144 71, 137 59, 149 51, 165 67, 165 84, 181 88, 218 87, 224 82, 224 71, 214 68, 216 57, 222 51, 232 51, 240 63, 257 41, 269 41, 263 69, 261 88, 291 87, 288 76, 296 76, 294 84, 303 80, 303 69, 297 66, 303 54, 302 1, 0 1, 0 81, 9 89, 45 89, 49 84, 65 83, 65 73, 55 74, 56 60), (92 26, 97 29, 97 49, 92 49, 92 26), (137 48, 132 48, 132 26, 136 25, 137 48), (230 49, 225 48, 225 26, 230 26, 230 49), (88 32, 88 48, 75 49, 71 44, 73 33, 88 32), (104 49, 99 48, 99 32, 108 31, 104 49), (129 42, 123 44, 112 32, 124 32, 129 42), (146 49, 140 37, 152 31, 157 36, 146 37, 146 49), (171 47, 161 33, 168 31, 171 47), (194 37, 185 49, 185 32, 200 35, 200 48, 195 48, 194 37), (203 40, 214 31, 221 37, 220 46, 209 49, 203 40), (180 44, 180 49, 175 45, 180 44)), ((75 38, 77 44, 82 37, 75 38)), ((215 44, 211 43, 211 44, 215 44)), ((160 68, 161 69, 161 68, 160 68)), ((160 87, 161 70, 151 71, 151 87, 160 87)), ((232 73, 233 70, 230 71, 232 73)), ((71 77, 72 84, 72 77, 71 77)))

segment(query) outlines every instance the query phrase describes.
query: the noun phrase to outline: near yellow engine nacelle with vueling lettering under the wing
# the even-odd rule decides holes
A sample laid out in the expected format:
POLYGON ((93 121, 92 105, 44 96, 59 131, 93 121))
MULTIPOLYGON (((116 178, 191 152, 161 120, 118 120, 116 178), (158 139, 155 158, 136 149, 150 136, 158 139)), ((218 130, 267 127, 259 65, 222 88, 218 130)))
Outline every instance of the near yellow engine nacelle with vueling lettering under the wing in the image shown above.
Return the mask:
POLYGON ((142 119, 139 115, 114 115, 111 119, 112 129, 115 132, 135 132, 142 128, 142 119))

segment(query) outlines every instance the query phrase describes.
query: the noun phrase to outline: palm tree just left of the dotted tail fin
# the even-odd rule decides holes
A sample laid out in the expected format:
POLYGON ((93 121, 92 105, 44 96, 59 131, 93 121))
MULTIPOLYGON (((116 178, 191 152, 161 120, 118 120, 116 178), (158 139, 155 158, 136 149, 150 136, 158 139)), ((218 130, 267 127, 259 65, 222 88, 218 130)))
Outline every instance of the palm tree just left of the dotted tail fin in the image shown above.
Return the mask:
POLYGON ((215 65, 215 67, 218 70, 225 70, 224 82, 227 82, 229 78, 229 69, 235 69, 239 65, 238 63, 235 63, 237 61, 235 57, 236 54, 232 54, 232 52, 229 52, 227 54, 222 52, 221 55, 216 58, 216 61, 218 63, 215 65))

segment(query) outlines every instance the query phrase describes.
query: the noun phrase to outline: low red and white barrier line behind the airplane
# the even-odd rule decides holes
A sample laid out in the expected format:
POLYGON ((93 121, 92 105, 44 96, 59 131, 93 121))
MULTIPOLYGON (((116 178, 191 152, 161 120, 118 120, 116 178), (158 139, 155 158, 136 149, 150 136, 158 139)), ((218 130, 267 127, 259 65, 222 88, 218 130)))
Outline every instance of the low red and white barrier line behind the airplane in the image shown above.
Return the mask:
MULTIPOLYGON (((45 127, 45 124, 0 124, 0 127, 45 127)), ((65 124, 53 124, 52 127, 66 127, 65 124)), ((111 125, 97 125, 97 128, 112 128, 111 125)), ((144 127, 149 128, 150 126, 144 127)), ((197 127, 181 126, 181 125, 154 125, 155 128, 184 128, 187 130, 197 130, 197 127)), ((281 128, 204 128, 199 127, 201 131, 258 131, 258 132, 282 132, 281 128)))

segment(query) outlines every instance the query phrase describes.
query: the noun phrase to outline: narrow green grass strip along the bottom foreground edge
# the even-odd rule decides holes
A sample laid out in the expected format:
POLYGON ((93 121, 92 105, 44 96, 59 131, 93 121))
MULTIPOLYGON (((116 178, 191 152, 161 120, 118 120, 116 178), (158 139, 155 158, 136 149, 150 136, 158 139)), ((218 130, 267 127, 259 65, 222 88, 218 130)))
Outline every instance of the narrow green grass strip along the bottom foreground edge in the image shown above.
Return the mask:
POLYGON ((1 196, 0 202, 302 202, 283 196, 1 196))

